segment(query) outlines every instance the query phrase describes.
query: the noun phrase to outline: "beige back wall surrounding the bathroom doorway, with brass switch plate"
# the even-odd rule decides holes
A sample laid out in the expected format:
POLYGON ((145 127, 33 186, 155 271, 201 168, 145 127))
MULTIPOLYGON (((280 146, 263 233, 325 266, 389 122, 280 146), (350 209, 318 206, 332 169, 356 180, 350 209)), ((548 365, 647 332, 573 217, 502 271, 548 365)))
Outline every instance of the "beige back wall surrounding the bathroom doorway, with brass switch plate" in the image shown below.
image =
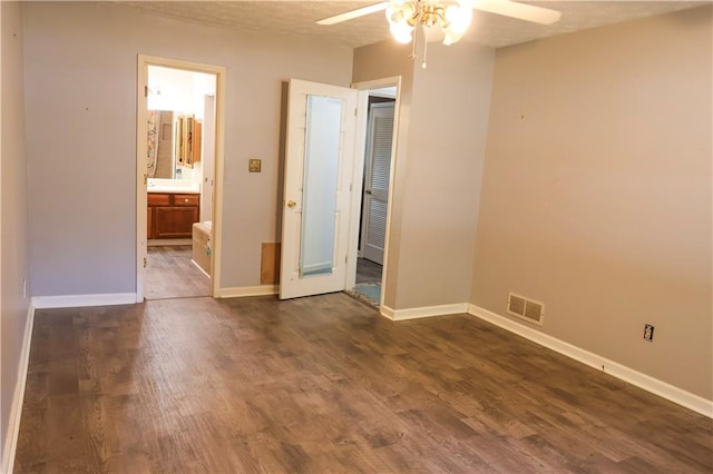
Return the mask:
POLYGON ((275 241, 282 81, 349 86, 352 51, 96 2, 26 4, 32 295, 133 293, 137 55, 227 69, 222 287, 275 241), (262 158, 248 174, 247 159, 262 158))

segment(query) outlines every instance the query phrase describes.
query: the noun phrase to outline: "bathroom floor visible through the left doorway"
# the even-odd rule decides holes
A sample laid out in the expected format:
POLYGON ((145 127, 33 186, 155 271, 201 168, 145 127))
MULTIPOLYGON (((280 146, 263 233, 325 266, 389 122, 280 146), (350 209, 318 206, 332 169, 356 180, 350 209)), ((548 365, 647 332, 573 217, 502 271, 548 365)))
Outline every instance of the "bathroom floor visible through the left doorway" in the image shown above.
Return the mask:
POLYGON ((211 279, 191 260, 189 245, 148 247, 146 299, 209 296, 211 279))

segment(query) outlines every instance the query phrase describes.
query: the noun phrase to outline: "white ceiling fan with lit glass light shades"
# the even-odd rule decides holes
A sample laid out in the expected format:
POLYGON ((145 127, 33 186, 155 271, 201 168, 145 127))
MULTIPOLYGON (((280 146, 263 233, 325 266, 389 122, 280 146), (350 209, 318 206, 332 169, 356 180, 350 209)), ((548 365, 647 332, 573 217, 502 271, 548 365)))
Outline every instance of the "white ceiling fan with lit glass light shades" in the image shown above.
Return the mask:
POLYGON ((557 10, 510 0, 391 0, 324 18, 318 23, 336 24, 385 10, 391 33, 397 41, 410 42, 413 29, 422 26, 427 34, 433 27, 439 27, 443 43, 452 45, 468 29, 473 9, 540 24, 555 23, 561 16, 557 10))

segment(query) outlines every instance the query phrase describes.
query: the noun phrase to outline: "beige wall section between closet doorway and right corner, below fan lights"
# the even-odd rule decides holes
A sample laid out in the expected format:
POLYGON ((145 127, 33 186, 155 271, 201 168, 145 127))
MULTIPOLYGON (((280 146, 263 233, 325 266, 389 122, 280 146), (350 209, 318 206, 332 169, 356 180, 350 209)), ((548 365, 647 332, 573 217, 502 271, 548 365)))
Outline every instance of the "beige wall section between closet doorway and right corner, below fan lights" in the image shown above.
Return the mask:
POLYGON ((494 51, 429 45, 428 69, 410 46, 354 52, 354 80, 402 75, 384 305, 468 300, 485 157, 494 51), (463 216, 469 216, 463 218, 463 216))

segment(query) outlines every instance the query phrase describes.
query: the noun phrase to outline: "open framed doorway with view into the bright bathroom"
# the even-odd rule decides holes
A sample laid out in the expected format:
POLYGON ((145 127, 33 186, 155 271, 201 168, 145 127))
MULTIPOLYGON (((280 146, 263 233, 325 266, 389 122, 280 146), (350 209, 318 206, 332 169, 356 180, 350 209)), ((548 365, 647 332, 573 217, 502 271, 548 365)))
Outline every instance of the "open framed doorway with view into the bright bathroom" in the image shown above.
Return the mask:
POLYGON ((214 296, 224 68, 139 56, 137 300, 214 296))

